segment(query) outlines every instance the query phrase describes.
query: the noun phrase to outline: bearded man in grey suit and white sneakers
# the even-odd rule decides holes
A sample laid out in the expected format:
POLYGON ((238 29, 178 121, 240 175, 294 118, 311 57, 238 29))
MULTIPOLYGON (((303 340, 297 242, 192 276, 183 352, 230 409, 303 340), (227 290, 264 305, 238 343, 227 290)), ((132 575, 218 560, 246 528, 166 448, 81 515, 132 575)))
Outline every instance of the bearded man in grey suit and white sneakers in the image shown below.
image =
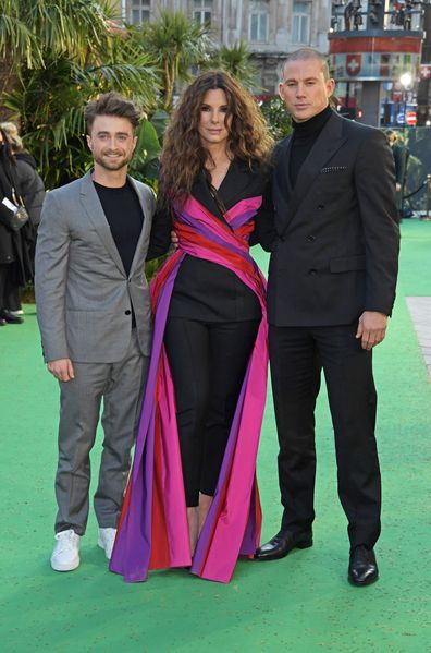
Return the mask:
POLYGON ((144 265, 155 201, 148 186, 127 176, 139 112, 109 93, 87 106, 86 120, 94 169, 48 193, 36 250, 44 358, 61 391, 51 556, 57 571, 79 565, 89 452, 102 399, 104 439, 94 505, 98 544, 111 556, 151 340, 144 265))

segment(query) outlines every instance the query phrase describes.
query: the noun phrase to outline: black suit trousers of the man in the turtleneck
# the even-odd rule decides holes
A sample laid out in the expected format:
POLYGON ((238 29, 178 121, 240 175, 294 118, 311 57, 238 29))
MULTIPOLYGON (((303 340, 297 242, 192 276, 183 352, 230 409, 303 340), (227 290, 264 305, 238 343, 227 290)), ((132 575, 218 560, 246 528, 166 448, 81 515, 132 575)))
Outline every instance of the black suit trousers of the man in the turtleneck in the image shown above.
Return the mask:
POLYGON ((374 427, 372 354, 356 340, 357 325, 270 326, 272 392, 279 434, 282 528, 308 529, 315 519, 315 407, 323 368, 338 475, 338 496, 352 546, 380 534, 381 487, 374 427))

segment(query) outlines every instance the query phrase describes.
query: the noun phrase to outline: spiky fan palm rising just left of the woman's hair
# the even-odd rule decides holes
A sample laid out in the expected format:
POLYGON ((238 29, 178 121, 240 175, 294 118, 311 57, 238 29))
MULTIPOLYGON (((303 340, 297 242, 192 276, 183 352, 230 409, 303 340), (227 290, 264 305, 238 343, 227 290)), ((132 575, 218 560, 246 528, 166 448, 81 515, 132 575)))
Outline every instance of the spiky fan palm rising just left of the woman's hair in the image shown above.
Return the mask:
POLYGON ((161 10, 157 21, 146 23, 134 36, 157 62, 162 78, 161 105, 171 111, 175 85, 190 78, 192 66, 207 66, 212 49, 206 25, 184 13, 161 10))

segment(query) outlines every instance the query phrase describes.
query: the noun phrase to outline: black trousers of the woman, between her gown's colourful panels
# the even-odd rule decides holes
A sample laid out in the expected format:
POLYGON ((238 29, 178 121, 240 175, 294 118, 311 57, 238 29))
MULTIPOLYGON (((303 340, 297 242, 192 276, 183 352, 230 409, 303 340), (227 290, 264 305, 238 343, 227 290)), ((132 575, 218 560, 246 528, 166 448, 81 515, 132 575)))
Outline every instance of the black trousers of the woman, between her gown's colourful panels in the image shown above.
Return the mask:
POLYGON ((199 492, 214 494, 259 322, 168 319, 164 346, 175 386, 188 507, 198 505, 199 492))

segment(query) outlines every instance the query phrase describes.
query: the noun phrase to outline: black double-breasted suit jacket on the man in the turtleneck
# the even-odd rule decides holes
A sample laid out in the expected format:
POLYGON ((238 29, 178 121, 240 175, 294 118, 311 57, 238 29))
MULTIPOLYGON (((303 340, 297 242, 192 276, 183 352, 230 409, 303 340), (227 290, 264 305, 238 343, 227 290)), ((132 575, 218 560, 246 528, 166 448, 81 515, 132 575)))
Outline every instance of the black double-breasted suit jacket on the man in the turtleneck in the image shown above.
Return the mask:
POLYGON ((391 314, 399 230, 394 161, 384 135, 333 113, 290 183, 292 138, 274 153, 268 317, 275 326, 352 324, 391 314))

